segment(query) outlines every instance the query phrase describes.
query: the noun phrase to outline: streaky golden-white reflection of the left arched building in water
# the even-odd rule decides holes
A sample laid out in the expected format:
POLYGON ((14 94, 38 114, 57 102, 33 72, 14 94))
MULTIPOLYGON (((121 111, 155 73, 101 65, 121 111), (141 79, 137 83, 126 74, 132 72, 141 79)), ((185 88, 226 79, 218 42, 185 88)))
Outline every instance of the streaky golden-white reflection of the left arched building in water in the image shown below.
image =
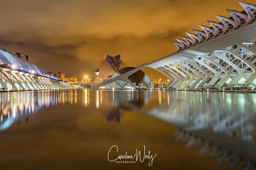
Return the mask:
MULTIPOLYGON (((69 90, 72 91, 72 90, 69 90)), ((64 90, 19 91, 0 93, 1 120, 0 130, 6 130, 12 123, 34 114, 43 107, 62 105, 75 101, 71 95, 65 96, 64 90)))

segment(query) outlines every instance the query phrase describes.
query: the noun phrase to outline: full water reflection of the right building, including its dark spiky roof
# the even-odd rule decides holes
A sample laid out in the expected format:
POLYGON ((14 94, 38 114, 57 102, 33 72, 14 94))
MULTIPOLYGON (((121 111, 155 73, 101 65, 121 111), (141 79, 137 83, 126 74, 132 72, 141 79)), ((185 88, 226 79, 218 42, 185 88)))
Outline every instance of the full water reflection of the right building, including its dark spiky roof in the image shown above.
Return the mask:
POLYGON ((167 103, 162 100, 161 105, 151 107, 148 113, 179 127, 177 140, 187 142, 186 146, 202 148, 200 153, 210 152, 210 157, 220 156, 217 163, 231 161, 230 167, 253 167, 255 94, 167 93, 167 103))

